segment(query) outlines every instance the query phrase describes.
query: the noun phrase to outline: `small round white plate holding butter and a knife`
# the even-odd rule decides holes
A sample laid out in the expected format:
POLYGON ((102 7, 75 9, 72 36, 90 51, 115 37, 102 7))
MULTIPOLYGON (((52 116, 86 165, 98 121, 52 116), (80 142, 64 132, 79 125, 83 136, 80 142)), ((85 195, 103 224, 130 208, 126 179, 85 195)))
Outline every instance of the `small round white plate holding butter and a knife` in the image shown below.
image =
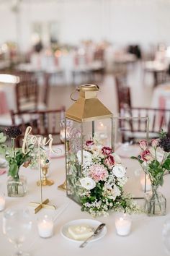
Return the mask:
MULTIPOLYGON (((100 221, 95 221, 95 220, 91 220, 91 219, 86 219, 86 218, 80 218, 78 220, 75 221, 70 221, 68 223, 66 223, 64 226, 61 227, 61 235, 71 241, 71 242, 77 242, 77 243, 82 243, 84 240, 80 241, 80 240, 76 240, 73 239, 73 237, 68 233, 68 227, 69 226, 79 226, 79 225, 88 225, 91 226, 91 228, 93 229, 97 229, 97 226, 99 226, 99 224, 101 224, 102 222, 100 221)), ((102 231, 97 235, 94 236, 93 238, 91 238, 89 240, 89 242, 94 242, 97 241, 99 239, 102 239, 103 236, 105 236, 105 234, 107 234, 107 227, 104 226, 104 229, 102 229, 102 231)))

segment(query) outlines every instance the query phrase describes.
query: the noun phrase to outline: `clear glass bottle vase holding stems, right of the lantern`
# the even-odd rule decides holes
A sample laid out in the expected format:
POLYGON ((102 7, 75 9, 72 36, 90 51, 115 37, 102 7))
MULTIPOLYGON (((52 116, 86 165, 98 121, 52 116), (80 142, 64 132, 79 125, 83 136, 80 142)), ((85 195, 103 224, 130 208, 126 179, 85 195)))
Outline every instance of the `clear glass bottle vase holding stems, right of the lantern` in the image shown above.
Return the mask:
POLYGON ((166 198, 158 191, 158 186, 152 186, 145 196, 145 210, 148 216, 166 215, 166 198))

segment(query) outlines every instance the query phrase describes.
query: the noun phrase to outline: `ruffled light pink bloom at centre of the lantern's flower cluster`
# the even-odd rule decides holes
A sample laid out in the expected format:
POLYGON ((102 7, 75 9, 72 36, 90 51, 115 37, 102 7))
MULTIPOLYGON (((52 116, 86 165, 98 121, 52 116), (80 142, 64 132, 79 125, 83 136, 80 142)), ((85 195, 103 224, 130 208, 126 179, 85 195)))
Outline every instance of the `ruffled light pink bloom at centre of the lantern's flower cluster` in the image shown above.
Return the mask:
POLYGON ((94 164, 89 168, 89 175, 94 179, 94 182, 104 181, 107 179, 108 171, 103 165, 94 164))

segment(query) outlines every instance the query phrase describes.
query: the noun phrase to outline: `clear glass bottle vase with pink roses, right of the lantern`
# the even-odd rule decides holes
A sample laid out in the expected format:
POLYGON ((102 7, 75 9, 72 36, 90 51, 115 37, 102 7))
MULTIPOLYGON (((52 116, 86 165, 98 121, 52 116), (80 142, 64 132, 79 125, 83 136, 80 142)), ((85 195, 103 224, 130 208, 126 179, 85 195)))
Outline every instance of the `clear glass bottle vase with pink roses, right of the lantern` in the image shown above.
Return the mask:
POLYGON ((151 191, 145 195, 145 209, 148 216, 166 215, 166 198, 158 191, 164 184, 164 176, 170 173, 170 137, 161 130, 159 138, 151 140, 151 146, 146 140, 139 142, 142 152, 138 160, 146 176, 151 181, 151 191))

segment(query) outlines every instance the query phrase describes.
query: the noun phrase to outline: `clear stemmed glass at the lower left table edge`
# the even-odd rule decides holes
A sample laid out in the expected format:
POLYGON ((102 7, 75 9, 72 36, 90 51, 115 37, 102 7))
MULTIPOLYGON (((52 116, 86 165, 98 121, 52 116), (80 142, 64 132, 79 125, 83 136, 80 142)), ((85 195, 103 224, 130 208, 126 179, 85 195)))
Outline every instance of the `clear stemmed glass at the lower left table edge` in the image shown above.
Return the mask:
POLYGON ((2 228, 9 242, 17 248, 17 252, 13 256, 29 256, 29 253, 22 252, 19 249, 32 229, 29 211, 27 209, 20 210, 16 208, 5 210, 2 228))

